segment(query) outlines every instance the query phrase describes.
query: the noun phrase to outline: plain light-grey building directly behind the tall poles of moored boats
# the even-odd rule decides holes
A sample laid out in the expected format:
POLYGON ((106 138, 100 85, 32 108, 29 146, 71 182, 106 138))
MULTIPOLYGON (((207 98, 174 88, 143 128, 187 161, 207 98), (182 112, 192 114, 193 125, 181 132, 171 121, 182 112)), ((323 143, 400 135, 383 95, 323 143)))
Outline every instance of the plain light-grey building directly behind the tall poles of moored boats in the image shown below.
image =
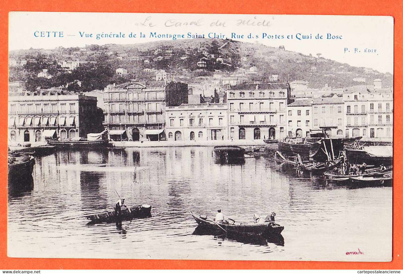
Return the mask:
POLYGON ((344 102, 342 97, 319 97, 312 99, 312 130, 320 130, 325 137, 344 138, 344 102))

